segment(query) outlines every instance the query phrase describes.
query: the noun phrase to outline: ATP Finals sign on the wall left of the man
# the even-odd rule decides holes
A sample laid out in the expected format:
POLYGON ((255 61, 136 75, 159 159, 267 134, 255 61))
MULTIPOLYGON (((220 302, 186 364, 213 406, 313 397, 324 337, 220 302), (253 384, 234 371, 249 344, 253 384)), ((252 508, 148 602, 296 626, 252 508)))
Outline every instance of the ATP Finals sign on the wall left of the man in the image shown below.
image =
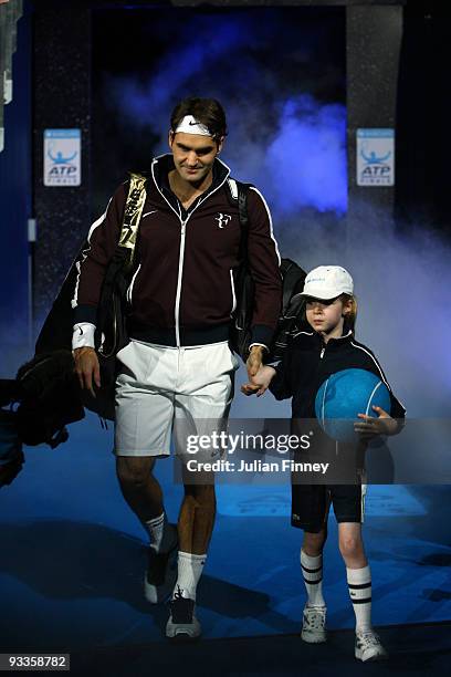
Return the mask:
POLYGON ((44 129, 44 186, 82 183, 80 129, 44 129))

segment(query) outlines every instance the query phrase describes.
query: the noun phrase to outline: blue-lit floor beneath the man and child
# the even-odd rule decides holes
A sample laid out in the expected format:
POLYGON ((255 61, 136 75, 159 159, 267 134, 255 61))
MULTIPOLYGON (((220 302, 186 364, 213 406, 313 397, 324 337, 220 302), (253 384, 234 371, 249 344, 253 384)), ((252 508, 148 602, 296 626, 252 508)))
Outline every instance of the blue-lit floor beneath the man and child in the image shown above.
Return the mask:
MULTIPOLYGON (((120 496, 111 449, 112 430, 103 431, 90 415, 56 450, 25 449, 22 473, 0 490, 3 646, 164 639, 167 610, 143 598, 145 533, 120 496)), ((172 482, 171 464, 160 461, 157 473, 176 520, 182 489, 172 482)), ((376 624, 451 617, 449 506, 447 487, 369 487, 364 534, 376 624)), ((302 531, 291 528, 289 511, 289 486, 218 488, 198 596, 206 637, 297 632, 305 603, 302 531)), ((324 592, 329 626, 352 627, 333 515, 324 592)))

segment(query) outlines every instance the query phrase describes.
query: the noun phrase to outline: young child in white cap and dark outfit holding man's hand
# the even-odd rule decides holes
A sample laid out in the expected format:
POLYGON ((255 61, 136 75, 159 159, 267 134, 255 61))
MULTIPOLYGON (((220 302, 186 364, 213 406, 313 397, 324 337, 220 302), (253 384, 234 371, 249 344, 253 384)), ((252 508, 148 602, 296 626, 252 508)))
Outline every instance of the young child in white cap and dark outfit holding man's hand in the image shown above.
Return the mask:
MULTIPOLYGON (((354 337, 357 302, 349 273, 339 265, 312 270, 302 295, 306 300, 307 329, 289 344, 282 362, 263 366, 247 395, 258 396, 270 387, 276 399, 292 397, 293 418, 315 418, 315 396, 331 374, 347 368, 373 372, 388 387, 390 413, 373 407, 377 418, 359 414, 355 430, 365 444, 377 435, 396 435, 402 428, 406 410, 392 395, 376 357, 354 337), (310 327, 308 327, 310 325, 310 327), (310 331, 308 331, 310 330, 310 331)), ((302 485, 292 482, 292 524, 304 530, 301 567, 307 591, 301 637, 304 642, 326 640, 326 604, 323 597, 323 548, 327 517, 333 503, 338 522, 339 551, 346 564, 347 583, 356 616, 355 656, 376 660, 387 656, 371 626, 371 575, 361 540, 364 485, 302 485)))

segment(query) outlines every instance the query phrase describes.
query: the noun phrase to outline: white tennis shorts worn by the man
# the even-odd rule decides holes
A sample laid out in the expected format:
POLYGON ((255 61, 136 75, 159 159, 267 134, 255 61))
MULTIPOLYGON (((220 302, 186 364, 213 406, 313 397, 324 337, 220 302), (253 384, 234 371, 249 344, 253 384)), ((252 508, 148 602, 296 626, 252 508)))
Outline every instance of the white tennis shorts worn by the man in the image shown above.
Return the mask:
MULTIPOLYGON (((186 458, 187 430, 201 436, 227 426, 240 366, 227 342, 167 347, 132 341, 117 358, 117 456, 168 456, 174 431, 176 454, 186 458)), ((211 450, 204 456, 212 460, 211 450)))

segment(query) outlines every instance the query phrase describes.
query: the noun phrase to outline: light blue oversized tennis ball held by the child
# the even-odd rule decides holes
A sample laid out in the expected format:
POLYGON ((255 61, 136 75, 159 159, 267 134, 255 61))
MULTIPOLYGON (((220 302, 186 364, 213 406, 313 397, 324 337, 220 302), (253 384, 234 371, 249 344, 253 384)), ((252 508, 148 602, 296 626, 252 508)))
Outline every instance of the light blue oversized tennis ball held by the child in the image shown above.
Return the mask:
POLYGON ((390 413, 390 394, 385 383, 366 369, 343 369, 332 374, 319 387, 315 414, 329 437, 355 442, 354 423, 361 420, 357 414, 376 417, 373 406, 390 413))

